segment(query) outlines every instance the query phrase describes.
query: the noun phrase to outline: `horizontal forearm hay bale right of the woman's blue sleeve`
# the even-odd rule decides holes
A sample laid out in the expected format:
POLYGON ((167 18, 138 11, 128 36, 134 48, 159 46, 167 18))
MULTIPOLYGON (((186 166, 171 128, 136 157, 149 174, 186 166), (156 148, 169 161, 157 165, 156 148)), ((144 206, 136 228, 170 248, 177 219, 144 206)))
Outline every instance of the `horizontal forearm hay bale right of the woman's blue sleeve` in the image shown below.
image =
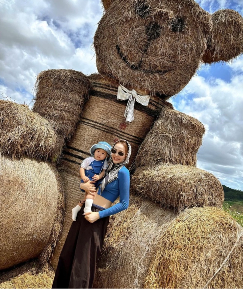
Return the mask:
POLYGON ((187 165, 141 167, 131 179, 131 192, 176 211, 194 206, 222 207, 224 191, 214 175, 187 165))

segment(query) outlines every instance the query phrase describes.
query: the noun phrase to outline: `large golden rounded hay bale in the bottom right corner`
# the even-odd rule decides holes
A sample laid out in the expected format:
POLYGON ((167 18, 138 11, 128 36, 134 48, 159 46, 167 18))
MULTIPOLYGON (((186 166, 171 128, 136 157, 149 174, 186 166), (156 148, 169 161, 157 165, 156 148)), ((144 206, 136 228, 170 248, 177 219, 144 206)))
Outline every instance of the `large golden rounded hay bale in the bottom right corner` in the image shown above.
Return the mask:
POLYGON ((192 208, 167 228, 144 288, 242 288, 243 228, 215 207, 192 208))

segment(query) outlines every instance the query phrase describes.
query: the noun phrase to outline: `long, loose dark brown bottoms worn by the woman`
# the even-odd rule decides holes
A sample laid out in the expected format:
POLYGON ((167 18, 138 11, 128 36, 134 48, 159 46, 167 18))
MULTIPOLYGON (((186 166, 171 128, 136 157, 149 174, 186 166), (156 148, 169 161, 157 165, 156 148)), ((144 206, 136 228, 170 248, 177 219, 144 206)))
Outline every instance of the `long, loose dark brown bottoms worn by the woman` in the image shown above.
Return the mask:
MULTIPOLYGON (((93 212, 101 210, 92 206, 93 212)), ((109 217, 90 223, 84 216, 84 206, 68 232, 59 257, 52 288, 92 288, 96 263, 101 255, 109 217)))

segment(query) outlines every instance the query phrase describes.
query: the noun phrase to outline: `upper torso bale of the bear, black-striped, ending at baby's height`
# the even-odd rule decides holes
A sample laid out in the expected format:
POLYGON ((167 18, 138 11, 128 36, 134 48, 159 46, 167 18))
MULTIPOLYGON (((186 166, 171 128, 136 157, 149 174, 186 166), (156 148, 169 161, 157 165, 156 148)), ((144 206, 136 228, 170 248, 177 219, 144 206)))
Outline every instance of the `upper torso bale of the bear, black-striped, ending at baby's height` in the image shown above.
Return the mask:
MULTIPOLYGON (((112 145, 116 140, 123 138, 131 144, 130 162, 132 162, 139 145, 148 134, 161 109, 165 106, 172 108, 173 106, 156 96, 150 98, 148 106, 142 106, 136 101, 135 121, 126 124, 124 112, 127 100, 117 99, 119 82, 106 75, 98 74, 92 74, 88 79, 91 83, 89 99, 85 103, 84 113, 80 117, 74 135, 63 151, 65 158, 80 164, 80 160, 90 155, 89 149, 93 144, 103 139, 112 145)), ((144 94, 143 91, 138 93, 144 94)))

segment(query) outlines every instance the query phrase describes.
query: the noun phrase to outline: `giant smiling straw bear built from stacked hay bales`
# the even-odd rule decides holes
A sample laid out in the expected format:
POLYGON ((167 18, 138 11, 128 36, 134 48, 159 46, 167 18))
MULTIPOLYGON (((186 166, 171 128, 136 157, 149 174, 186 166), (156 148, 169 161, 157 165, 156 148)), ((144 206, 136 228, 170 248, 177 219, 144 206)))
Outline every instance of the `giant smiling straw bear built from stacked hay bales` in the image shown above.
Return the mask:
POLYGON ((95 286, 240 287, 242 228, 220 209, 219 181, 196 168, 204 127, 166 100, 200 63, 243 52, 243 19, 227 9, 211 15, 193 0, 102 2, 99 74, 41 72, 33 111, 0 101, 0 269, 39 255, 45 262, 55 246, 56 266, 81 197, 81 160, 97 141, 125 138, 130 206, 111 218, 95 286), (117 99, 124 87, 127 118, 128 100, 117 99))

